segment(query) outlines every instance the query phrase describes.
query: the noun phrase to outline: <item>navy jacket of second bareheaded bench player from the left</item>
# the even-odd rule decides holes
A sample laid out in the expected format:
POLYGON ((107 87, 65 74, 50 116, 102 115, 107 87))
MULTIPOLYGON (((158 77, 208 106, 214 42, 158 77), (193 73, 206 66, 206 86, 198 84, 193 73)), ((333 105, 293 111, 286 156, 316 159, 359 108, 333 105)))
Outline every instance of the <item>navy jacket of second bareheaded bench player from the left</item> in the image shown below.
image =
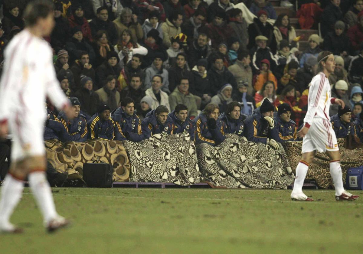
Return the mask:
POLYGON ((148 112, 145 118, 141 121, 143 139, 150 138, 153 134, 173 134, 173 122, 168 116, 166 122, 161 124, 156 118, 155 109, 148 112))

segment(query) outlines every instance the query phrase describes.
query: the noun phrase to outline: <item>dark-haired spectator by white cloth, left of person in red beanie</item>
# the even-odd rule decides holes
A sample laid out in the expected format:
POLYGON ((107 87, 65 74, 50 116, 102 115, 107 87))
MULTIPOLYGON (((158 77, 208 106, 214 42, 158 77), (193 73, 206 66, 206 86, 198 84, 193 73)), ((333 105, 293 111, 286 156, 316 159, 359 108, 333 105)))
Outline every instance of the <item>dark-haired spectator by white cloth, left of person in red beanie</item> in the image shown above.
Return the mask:
POLYGON ((237 36, 240 42, 240 49, 246 50, 248 44, 248 25, 243 17, 242 10, 234 8, 228 11, 229 25, 232 27, 234 34, 237 36))

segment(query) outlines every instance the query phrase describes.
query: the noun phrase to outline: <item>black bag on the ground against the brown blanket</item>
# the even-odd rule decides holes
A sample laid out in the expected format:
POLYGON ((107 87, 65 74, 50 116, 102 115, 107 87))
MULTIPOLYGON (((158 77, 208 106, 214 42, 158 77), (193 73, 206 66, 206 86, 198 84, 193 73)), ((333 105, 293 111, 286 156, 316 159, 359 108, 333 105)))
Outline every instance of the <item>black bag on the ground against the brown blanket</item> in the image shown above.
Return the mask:
POLYGON ((87 187, 112 188, 113 167, 111 164, 95 160, 83 164, 83 180, 87 187), (95 162, 99 163, 95 163, 95 162))

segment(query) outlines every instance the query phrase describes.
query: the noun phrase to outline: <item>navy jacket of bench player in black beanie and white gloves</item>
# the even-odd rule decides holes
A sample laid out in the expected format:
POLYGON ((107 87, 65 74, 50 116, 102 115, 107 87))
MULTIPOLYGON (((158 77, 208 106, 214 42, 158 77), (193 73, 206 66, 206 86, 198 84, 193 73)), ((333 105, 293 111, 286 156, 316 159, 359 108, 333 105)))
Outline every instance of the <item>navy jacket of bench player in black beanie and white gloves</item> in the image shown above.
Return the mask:
POLYGON ((252 141, 254 143, 266 144, 267 138, 280 142, 280 136, 278 135, 276 124, 275 127, 270 130, 268 122, 264 119, 260 112, 260 107, 253 111, 253 115, 246 118, 245 137, 248 141, 252 141))

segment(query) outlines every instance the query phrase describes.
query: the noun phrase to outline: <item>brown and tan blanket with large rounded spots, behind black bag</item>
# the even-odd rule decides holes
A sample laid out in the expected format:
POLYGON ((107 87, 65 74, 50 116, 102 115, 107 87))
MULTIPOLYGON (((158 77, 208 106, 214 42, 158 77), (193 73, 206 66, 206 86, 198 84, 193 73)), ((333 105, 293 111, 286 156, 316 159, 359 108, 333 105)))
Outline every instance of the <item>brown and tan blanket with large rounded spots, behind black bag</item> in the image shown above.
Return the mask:
POLYGON ((45 141, 47 160, 58 172, 68 171, 68 179, 82 179, 83 163, 101 160, 113 165, 113 181, 128 182, 130 163, 121 141, 101 139, 81 142, 45 141))

